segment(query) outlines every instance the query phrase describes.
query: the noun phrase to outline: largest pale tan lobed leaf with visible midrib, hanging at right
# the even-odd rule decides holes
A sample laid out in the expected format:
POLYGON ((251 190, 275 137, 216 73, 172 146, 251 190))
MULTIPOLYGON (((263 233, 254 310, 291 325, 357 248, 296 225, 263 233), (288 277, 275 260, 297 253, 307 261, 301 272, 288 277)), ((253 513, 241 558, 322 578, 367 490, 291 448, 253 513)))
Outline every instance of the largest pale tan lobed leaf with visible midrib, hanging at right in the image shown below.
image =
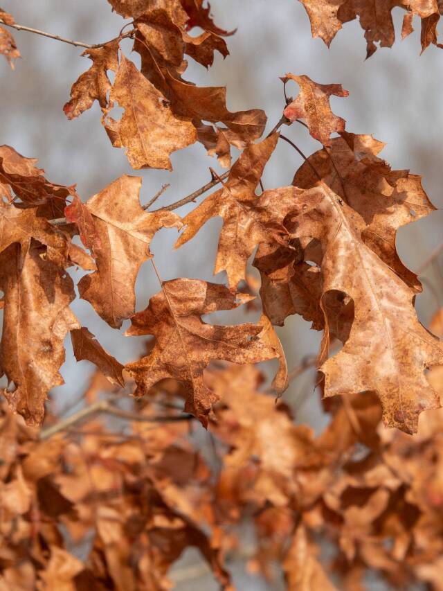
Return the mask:
POLYGON ((338 291, 354 301, 343 349, 320 367, 325 396, 374 391, 385 424, 415 432, 419 413, 440 406, 425 371, 443 364, 442 344, 419 323, 413 290, 361 240, 359 213, 323 183, 299 195, 297 206, 296 234, 323 247, 323 298, 338 291))

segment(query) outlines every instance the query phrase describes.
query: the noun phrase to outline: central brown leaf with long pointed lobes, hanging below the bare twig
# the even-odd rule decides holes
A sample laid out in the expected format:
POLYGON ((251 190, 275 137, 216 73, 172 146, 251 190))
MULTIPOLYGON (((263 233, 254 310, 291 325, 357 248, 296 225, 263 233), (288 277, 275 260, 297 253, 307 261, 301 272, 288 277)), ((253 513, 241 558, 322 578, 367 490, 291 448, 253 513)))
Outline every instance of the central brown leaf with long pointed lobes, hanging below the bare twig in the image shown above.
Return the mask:
POLYGON ((186 228, 176 247, 193 238, 210 218, 219 215, 224 219, 214 272, 226 271, 232 288, 245 279, 246 262, 257 244, 283 242, 280 235, 284 236, 284 228, 269 218, 255 195, 255 187, 277 141, 278 134, 273 134, 249 145, 230 169, 224 186, 183 218, 186 228))

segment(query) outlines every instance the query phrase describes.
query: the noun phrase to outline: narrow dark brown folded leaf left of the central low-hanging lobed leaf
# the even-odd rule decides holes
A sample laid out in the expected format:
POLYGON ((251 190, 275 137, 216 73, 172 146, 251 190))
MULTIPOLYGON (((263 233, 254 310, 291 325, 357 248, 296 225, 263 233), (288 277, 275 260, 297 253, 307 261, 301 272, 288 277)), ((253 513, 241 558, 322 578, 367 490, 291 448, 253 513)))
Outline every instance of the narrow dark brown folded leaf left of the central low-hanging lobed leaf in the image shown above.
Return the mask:
POLYGON ((103 349, 95 335, 85 326, 71 330, 71 341, 77 361, 90 361, 96 364, 109 382, 120 386, 125 385, 123 365, 103 349))

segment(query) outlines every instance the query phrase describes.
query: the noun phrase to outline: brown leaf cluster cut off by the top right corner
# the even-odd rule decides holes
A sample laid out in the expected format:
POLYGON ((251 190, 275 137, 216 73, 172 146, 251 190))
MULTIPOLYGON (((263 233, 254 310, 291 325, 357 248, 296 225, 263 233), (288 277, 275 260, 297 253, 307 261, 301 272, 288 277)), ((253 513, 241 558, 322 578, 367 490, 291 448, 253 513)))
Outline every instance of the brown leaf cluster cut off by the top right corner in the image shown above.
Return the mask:
POLYGON ((300 0, 300 2, 309 15, 312 36, 323 39, 328 47, 343 24, 354 19, 359 20, 361 28, 365 31, 367 58, 377 50, 377 45, 391 47, 395 42, 392 10, 397 7, 406 10, 401 39, 413 32, 413 18, 419 17, 422 51, 431 44, 442 47, 442 44, 437 43, 437 24, 443 10, 439 0, 383 0, 381 2, 377 0, 300 0))

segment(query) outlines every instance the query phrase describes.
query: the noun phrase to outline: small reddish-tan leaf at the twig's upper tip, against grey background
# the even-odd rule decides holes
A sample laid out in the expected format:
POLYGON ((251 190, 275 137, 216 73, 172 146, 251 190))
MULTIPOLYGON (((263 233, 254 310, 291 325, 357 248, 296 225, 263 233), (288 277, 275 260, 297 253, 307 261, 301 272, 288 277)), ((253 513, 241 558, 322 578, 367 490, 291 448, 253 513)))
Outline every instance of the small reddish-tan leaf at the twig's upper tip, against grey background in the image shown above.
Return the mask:
POLYGON ((308 76, 294 76, 289 73, 285 79, 294 80, 300 87, 300 94, 286 109, 284 115, 289 121, 305 119, 309 133, 323 145, 330 145, 329 136, 334 132, 345 130, 345 120, 334 115, 329 105, 329 98, 348 96, 341 84, 317 84, 308 76))

